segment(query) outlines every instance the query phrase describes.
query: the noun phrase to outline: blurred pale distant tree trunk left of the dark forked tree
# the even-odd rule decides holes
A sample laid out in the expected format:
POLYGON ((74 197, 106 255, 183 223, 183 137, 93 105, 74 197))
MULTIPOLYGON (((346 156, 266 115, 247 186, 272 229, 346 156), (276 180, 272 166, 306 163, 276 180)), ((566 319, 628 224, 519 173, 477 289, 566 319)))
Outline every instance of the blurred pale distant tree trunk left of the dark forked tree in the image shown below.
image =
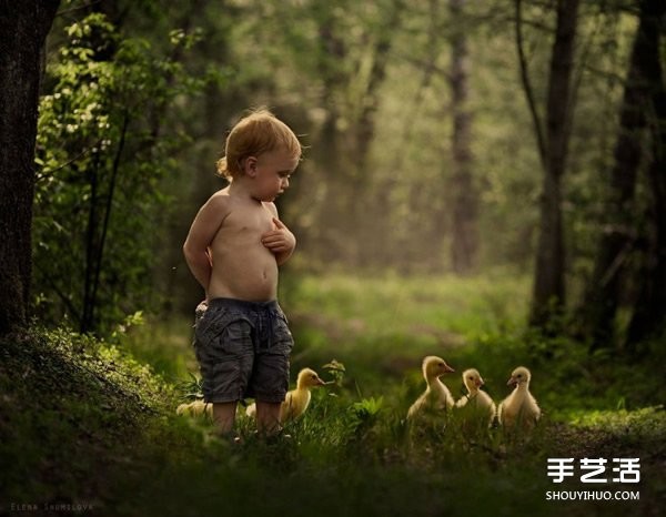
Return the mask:
POLYGON ((465 0, 451 0, 451 111, 453 114, 453 176, 450 182, 453 204, 451 257, 457 274, 472 272, 478 251, 478 193, 472 174, 472 114, 467 108, 468 52, 463 23, 465 0))

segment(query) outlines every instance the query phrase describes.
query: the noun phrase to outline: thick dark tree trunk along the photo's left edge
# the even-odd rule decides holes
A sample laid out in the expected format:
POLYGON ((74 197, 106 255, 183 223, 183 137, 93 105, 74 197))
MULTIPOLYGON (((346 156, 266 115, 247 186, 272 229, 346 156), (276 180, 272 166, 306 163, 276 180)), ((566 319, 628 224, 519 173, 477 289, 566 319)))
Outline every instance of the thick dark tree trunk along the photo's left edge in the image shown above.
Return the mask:
POLYGON ((59 3, 0 0, 0 334, 27 322, 41 53, 59 3))

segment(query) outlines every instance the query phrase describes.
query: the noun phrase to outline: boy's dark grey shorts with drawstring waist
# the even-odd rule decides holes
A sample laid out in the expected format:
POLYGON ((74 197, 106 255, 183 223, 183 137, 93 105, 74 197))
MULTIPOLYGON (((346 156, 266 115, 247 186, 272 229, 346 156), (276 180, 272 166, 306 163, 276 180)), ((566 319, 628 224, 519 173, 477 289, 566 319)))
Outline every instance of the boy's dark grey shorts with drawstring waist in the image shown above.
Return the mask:
POLYGON ((278 302, 214 298, 201 313, 198 308, 194 352, 203 399, 283 402, 294 341, 278 302))

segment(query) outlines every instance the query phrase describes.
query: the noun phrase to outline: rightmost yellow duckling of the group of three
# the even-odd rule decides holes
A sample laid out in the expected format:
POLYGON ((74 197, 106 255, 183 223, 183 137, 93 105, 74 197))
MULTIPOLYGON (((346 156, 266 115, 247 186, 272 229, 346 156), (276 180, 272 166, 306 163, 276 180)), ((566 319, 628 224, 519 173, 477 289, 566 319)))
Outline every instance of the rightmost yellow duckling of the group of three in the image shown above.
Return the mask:
POLYGON ((515 386, 515 388, 500 404, 497 416, 500 424, 507 429, 521 426, 529 430, 541 417, 541 409, 536 404, 536 399, 529 393, 531 378, 532 374, 524 366, 518 366, 513 371, 511 378, 506 383, 507 386, 515 386))

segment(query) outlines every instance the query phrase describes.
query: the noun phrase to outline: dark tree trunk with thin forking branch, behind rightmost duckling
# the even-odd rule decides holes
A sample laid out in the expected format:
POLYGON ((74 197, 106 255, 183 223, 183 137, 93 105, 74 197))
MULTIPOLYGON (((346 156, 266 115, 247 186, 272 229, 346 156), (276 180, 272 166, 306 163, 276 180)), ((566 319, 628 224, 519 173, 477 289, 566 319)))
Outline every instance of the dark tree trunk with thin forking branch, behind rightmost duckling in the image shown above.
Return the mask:
POLYGON ((521 0, 516 0, 516 39, 521 58, 523 85, 534 120, 539 156, 544 168, 541 197, 541 225, 534 274, 531 324, 546 327, 561 312, 565 296, 565 251, 562 222, 562 178, 573 119, 572 75, 579 0, 557 0, 555 40, 551 54, 546 126, 541 123, 528 81, 522 44, 521 0))

